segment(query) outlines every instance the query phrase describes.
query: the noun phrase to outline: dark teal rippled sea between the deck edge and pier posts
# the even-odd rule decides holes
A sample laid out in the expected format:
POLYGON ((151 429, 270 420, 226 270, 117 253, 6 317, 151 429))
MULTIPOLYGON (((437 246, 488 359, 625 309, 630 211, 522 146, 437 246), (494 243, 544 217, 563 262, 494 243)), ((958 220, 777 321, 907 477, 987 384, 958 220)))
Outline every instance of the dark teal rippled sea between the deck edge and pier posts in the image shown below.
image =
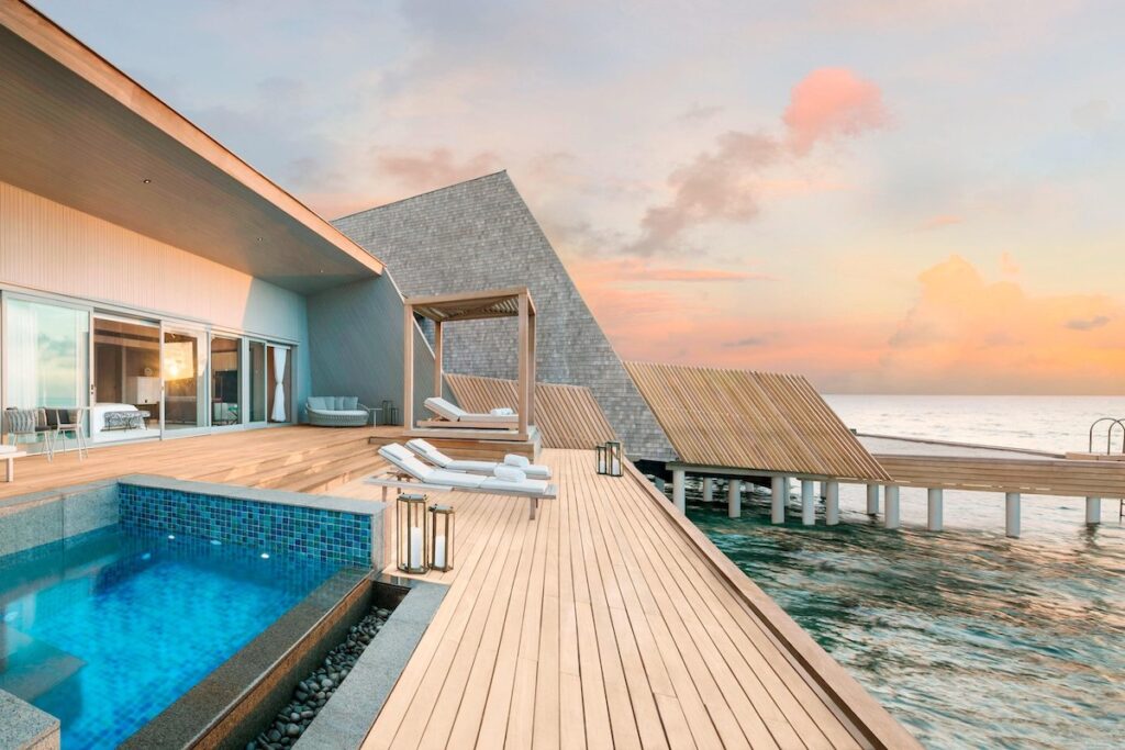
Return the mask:
POLYGON ((730 519, 688 489, 692 521, 928 747, 1120 747, 1119 524, 888 532, 856 493, 840 526, 778 527, 762 499, 730 519))

